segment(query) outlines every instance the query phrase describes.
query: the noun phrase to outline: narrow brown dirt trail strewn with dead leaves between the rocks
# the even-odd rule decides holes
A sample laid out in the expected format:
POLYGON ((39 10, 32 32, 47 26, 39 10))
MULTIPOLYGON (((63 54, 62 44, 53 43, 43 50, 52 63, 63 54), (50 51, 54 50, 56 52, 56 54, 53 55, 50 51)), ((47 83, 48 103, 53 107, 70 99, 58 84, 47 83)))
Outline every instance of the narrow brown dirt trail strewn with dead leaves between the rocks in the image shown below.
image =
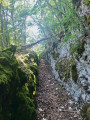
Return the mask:
POLYGON ((77 106, 57 81, 45 60, 39 66, 37 120, 82 120, 77 106))

